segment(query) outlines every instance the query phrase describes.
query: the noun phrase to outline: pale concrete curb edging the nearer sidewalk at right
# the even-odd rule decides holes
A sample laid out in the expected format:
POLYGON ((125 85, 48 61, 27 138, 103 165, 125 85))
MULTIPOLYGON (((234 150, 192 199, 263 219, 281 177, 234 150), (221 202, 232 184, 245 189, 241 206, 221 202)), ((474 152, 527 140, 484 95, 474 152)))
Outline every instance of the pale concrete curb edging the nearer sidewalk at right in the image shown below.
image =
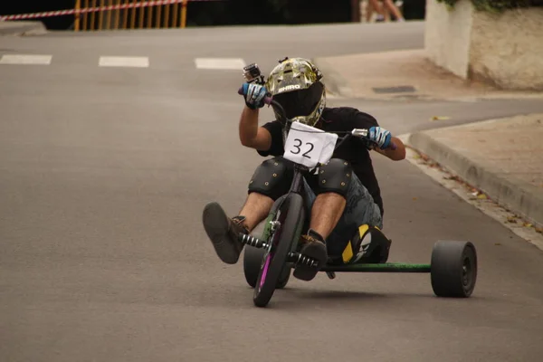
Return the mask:
POLYGON ((405 144, 460 176, 468 184, 480 189, 498 205, 538 227, 543 227, 543 195, 535 186, 514 177, 500 176, 497 170, 483 167, 476 160, 462 155, 435 140, 427 131, 405 136, 405 144))

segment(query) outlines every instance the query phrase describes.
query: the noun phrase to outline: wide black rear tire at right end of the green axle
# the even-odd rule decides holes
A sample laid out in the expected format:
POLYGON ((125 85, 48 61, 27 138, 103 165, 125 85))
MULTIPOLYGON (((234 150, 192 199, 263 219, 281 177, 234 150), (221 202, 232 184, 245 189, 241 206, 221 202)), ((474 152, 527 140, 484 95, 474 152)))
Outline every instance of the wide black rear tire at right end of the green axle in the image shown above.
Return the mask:
POLYGON ((436 296, 469 298, 477 281, 477 252, 470 242, 440 240, 433 245, 430 264, 436 296))

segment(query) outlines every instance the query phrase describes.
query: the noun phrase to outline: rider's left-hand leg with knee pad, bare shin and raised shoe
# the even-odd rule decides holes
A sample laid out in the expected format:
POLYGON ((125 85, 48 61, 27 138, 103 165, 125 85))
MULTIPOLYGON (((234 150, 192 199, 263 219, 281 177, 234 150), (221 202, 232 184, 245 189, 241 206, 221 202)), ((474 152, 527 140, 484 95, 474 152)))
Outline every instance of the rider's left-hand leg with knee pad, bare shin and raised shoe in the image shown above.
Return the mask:
POLYGON ((267 159, 256 168, 249 182, 247 200, 237 216, 230 218, 217 203, 205 205, 203 223, 219 258, 228 264, 239 260, 243 243, 240 233, 250 233, 270 212, 273 202, 291 185, 293 168, 282 157, 267 159))

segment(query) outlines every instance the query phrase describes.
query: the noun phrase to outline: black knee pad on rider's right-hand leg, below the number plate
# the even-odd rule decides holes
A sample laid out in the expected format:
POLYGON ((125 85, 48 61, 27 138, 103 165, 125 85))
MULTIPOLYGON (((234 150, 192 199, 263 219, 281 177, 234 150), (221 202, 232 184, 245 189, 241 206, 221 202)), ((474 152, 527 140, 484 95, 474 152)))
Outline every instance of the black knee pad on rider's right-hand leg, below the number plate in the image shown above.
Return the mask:
POLYGON ((316 194, 334 192, 346 197, 352 175, 353 169, 347 161, 340 158, 330 159, 328 164, 319 169, 319 186, 316 194))

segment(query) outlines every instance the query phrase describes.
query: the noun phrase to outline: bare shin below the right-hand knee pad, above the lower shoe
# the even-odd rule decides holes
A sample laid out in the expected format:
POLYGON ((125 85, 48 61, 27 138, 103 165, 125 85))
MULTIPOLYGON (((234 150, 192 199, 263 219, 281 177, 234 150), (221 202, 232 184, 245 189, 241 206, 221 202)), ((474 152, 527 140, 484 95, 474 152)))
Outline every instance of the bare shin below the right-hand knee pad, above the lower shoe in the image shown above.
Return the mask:
POLYGON ((345 205, 347 201, 342 195, 335 193, 318 195, 311 208, 310 228, 326 240, 338 224, 345 205))

